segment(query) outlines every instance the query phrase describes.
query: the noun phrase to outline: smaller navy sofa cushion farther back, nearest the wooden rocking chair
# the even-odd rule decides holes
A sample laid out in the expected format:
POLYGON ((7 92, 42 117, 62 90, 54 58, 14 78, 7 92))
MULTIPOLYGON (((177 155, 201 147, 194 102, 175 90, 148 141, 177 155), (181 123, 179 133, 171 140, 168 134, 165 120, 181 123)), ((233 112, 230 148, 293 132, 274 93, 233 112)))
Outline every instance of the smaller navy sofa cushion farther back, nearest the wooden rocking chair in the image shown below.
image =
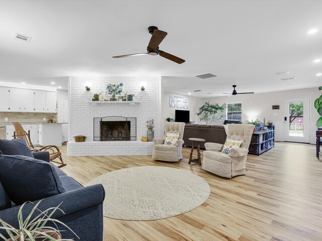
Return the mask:
POLYGON ((0 154, 34 157, 24 139, 0 140, 0 154))

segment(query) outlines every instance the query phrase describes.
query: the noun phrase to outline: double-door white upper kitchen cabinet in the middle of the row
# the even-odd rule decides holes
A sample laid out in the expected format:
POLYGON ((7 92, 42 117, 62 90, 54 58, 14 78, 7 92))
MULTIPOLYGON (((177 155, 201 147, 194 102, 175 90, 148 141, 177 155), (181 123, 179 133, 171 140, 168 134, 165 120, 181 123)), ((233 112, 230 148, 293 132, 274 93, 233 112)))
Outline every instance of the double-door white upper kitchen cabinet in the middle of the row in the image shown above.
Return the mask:
POLYGON ((34 91, 31 89, 10 88, 10 111, 33 112, 34 91))

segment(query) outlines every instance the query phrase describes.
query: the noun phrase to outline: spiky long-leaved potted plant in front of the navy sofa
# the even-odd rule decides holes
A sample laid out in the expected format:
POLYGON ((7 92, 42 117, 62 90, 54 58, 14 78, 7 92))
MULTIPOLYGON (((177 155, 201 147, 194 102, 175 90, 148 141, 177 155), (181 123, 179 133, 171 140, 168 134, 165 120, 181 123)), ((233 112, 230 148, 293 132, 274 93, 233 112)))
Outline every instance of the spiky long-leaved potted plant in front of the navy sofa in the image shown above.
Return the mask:
MULTIPOLYGON (((26 219, 23 219, 22 209, 24 205, 28 202, 25 202, 21 205, 18 211, 18 223, 19 228, 15 228, 9 223, 5 222, 0 218, 0 229, 4 229, 7 231, 8 235, 10 236, 9 239, 7 239, 3 234, 0 233, 0 237, 4 240, 8 241, 67 241, 67 240, 73 240, 73 239, 61 239, 60 230, 56 227, 51 227, 46 225, 47 222, 54 222, 59 223, 66 228, 68 228, 73 234, 77 236, 76 233, 74 233, 66 224, 63 222, 51 218, 51 216, 54 214, 55 211, 59 210, 63 212, 59 205, 57 207, 51 207, 47 208, 44 211, 40 211, 38 209, 38 205, 40 204, 42 200, 37 202, 29 215, 26 217, 26 219), (35 211, 39 211, 40 213, 38 215, 35 215, 35 211), (32 217, 34 215, 34 217, 32 217)), ((78 237, 78 236, 77 236, 78 237)), ((79 238, 79 237, 78 237, 79 238)))

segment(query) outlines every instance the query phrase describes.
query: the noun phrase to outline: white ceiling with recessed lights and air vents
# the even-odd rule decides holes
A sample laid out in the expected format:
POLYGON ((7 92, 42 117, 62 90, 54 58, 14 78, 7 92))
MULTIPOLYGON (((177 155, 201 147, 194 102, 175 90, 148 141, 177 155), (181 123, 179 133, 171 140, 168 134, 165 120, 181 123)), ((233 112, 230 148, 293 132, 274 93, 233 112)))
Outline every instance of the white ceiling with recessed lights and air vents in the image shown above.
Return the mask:
POLYGON ((66 89, 65 76, 160 75, 165 91, 197 97, 232 84, 237 92, 317 87, 321 12, 322 1, 0 1, 0 81, 66 89), (168 32, 159 48, 185 63, 112 58, 145 52, 151 25, 168 32), (208 72, 218 77, 193 77, 208 72), (288 77, 296 79, 280 80, 288 77))

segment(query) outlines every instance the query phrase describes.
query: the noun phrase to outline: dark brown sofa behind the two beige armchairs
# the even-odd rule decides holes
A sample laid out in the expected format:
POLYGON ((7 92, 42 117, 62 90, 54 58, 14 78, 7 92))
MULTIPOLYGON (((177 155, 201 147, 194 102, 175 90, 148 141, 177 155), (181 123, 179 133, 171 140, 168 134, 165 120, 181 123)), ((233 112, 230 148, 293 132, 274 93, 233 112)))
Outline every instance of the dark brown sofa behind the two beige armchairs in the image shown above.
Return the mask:
POLYGON ((226 132, 223 126, 207 126, 197 124, 187 124, 183 134, 184 146, 192 147, 192 141, 189 138, 202 138, 206 141, 200 144, 200 148, 205 149, 206 142, 224 144, 226 141, 226 132))

